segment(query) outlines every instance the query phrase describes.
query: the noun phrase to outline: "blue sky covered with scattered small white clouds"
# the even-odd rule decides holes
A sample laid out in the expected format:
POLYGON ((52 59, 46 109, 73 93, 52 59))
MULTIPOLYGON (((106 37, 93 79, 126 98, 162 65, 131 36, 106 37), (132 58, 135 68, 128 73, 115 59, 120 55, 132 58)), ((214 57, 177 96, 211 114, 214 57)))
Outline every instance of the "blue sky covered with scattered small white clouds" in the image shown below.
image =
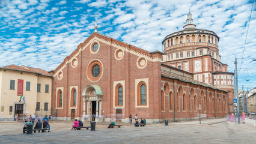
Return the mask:
POLYGON ((219 54, 221 61, 229 65, 228 71, 234 71, 237 58, 239 89, 245 85, 245 90, 250 90, 256 87, 256 61, 252 61, 256 59, 256 4, 254 1, 252 8, 252 3, 253 0, 0 0, 0 67, 23 64, 54 70, 94 32, 96 19, 100 34, 150 52, 162 51, 163 38, 183 29, 190 8, 197 28, 209 29, 220 37, 219 54))

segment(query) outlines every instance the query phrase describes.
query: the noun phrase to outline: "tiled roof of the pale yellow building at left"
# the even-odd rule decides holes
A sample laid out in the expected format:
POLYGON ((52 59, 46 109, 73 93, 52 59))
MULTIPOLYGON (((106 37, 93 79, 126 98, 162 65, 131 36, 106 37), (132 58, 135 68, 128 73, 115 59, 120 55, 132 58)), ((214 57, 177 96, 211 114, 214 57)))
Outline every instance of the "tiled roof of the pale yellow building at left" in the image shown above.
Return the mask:
POLYGON ((38 74, 41 76, 49 76, 52 77, 51 74, 49 74, 47 71, 42 70, 40 68, 33 68, 33 67, 26 67, 25 65, 7 65, 4 67, 0 67, 0 69, 2 70, 14 70, 14 71, 22 71, 22 72, 26 72, 26 73, 34 73, 34 74, 38 74))

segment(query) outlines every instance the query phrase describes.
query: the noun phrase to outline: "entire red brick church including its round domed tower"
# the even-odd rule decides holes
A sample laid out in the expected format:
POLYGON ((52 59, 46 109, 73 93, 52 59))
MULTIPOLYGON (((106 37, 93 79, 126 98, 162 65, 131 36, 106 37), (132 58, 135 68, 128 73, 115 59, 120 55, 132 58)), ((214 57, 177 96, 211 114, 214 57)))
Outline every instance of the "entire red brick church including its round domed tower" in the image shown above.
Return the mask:
MULTIPOLYGON (((184 28, 190 31, 194 26, 188 23, 184 28)), ((226 85, 233 86, 233 81, 230 77, 232 74, 227 72, 227 65, 222 64, 217 56, 217 42, 206 43, 208 39, 205 38, 202 39, 204 43, 200 42, 203 46, 199 47, 194 44, 198 35, 189 33, 189 39, 180 38, 181 36, 183 35, 178 35, 177 45, 175 37, 168 35, 163 41, 163 53, 148 52, 99 34, 96 24, 95 32, 50 72, 53 75, 52 115, 62 120, 78 118, 90 121, 95 116, 96 121, 109 122, 114 119, 127 123, 129 116, 132 115, 134 119, 136 114, 138 118, 147 119, 148 123, 162 122, 163 119, 198 119, 200 110, 205 118, 227 115, 230 112, 229 95, 233 87, 228 91, 213 85, 213 82, 222 75, 227 76, 226 85), (183 43, 179 42, 181 40, 183 43), (191 50, 186 46, 190 46, 191 50), (180 56, 184 50, 191 53, 191 56, 194 52, 193 58, 168 59, 171 55, 180 56), (209 50, 214 54, 203 53, 198 57, 200 54, 195 53, 200 50, 209 50), (209 65, 207 70, 204 67, 200 70, 194 68, 194 64, 201 67, 204 62, 209 65), (218 69, 213 71, 215 64, 218 64, 218 69)), ((209 34, 201 34, 201 38, 206 36, 209 34)), ((210 37, 215 41, 219 40, 216 34, 210 37)), ((222 81, 216 83, 220 84, 222 81)))

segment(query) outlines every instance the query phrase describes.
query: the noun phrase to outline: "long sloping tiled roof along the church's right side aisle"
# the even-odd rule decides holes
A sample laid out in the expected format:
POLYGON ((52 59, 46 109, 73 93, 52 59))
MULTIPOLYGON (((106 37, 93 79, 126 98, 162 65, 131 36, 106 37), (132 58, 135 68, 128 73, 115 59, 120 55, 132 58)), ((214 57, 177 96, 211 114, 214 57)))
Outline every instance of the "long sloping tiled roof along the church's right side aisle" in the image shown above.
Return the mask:
MULTIPOLYGON (((179 76, 178 74, 173 74, 173 73, 170 73, 169 71, 161 70, 161 76, 162 77, 167 77, 167 78, 170 78, 170 79, 177 79, 177 80, 180 80, 182 82, 188 82, 188 83, 192 83, 192 84, 195 84, 195 85, 201 85, 201 86, 204 86, 206 88, 212 88, 212 89, 217 89, 219 91, 224 91, 223 89, 218 89, 215 86, 207 85, 206 83, 199 82, 199 81, 194 80, 194 79, 190 79, 189 77, 179 76)), ((225 92, 227 92, 227 91, 225 91, 225 92)))

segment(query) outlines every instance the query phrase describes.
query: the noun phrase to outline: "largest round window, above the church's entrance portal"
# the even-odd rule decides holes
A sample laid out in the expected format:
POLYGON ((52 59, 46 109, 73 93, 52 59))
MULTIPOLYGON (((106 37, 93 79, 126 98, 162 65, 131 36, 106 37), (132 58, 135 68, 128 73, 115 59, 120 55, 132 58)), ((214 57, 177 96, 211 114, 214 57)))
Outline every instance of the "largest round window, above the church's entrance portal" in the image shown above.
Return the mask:
POLYGON ((87 77, 91 82, 97 82, 102 77, 103 66, 102 62, 94 59, 87 67, 87 77))

